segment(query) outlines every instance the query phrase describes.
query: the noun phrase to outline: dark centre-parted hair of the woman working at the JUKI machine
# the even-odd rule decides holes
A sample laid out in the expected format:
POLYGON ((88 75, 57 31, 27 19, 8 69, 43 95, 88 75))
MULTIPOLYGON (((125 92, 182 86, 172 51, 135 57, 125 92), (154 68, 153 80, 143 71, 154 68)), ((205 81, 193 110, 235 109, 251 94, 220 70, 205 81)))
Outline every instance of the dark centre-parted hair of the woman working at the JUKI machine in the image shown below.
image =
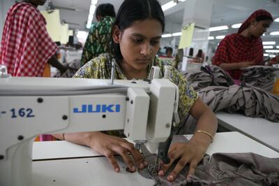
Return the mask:
MULTIPOLYGON (((133 22, 138 20, 156 19, 162 25, 162 33, 165 29, 165 16, 163 10, 157 0, 125 0, 121 4, 112 25, 119 27, 123 31, 130 27, 133 22)), ((118 44, 112 40, 112 53, 118 62, 121 62, 123 56, 118 44)))

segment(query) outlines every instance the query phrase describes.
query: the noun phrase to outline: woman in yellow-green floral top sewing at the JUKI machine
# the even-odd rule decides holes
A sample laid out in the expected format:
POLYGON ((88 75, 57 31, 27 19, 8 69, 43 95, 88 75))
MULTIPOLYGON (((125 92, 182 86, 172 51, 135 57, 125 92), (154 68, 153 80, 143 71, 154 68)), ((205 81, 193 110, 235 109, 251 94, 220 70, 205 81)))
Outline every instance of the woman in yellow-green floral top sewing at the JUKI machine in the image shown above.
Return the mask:
MULTIPOLYGON (((121 80, 148 78, 151 66, 158 66, 163 73, 168 60, 156 57, 160 48, 160 38, 165 29, 165 17, 160 3, 156 0, 123 1, 112 27, 112 52, 104 53, 82 66, 74 78, 111 78, 112 59, 116 59, 115 77, 121 80)), ((162 78, 162 74, 160 75, 162 78)), ((169 148, 170 163, 163 164, 158 170, 164 176, 175 160, 178 163, 167 173, 167 179, 173 181, 186 164, 190 164, 187 178, 195 173, 197 164, 204 156, 217 129, 217 120, 212 110, 199 98, 188 81, 179 71, 172 68, 170 79, 179 87, 179 116, 188 113, 197 120, 197 131, 188 143, 174 143, 169 148)), ((94 121, 92 121, 93 124, 94 121)), ((179 124, 178 124, 179 126, 179 124)), ((140 151, 121 137, 122 131, 93 131, 82 133, 56 134, 57 138, 87 145, 101 155, 105 155, 114 171, 120 167, 114 155, 121 155, 130 171, 143 169, 146 164, 140 151)))

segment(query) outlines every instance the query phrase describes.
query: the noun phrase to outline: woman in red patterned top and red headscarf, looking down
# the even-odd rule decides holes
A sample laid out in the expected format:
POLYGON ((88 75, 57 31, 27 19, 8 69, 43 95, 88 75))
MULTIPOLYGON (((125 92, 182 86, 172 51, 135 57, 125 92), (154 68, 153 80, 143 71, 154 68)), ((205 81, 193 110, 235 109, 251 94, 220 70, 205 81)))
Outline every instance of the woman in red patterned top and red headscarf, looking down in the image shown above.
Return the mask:
POLYGON ((266 10, 257 10, 241 24, 237 34, 226 36, 218 45, 212 64, 220 66, 232 78, 241 78, 241 68, 263 64, 261 36, 273 18, 266 10))

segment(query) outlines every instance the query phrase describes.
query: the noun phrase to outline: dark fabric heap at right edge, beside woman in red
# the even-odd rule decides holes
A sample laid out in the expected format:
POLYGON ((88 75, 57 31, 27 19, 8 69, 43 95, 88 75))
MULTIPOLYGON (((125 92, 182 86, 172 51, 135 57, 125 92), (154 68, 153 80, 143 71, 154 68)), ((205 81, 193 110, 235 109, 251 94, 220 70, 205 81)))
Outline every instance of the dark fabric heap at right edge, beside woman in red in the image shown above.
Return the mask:
POLYGON ((271 92, 276 76, 274 72, 279 71, 279 68, 273 66, 250 66, 241 70, 243 71, 241 83, 248 83, 271 92))

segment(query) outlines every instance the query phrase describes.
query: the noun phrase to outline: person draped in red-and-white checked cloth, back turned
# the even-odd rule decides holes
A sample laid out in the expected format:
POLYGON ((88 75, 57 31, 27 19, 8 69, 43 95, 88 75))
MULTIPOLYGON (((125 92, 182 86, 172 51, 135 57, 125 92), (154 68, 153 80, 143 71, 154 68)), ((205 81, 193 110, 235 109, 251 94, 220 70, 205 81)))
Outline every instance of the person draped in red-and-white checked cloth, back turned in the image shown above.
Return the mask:
POLYGON ((63 73, 66 67, 55 57, 56 44, 47 34, 45 18, 38 10, 43 0, 15 3, 6 16, 0 47, 0 64, 12 76, 43 76, 51 64, 63 73))

